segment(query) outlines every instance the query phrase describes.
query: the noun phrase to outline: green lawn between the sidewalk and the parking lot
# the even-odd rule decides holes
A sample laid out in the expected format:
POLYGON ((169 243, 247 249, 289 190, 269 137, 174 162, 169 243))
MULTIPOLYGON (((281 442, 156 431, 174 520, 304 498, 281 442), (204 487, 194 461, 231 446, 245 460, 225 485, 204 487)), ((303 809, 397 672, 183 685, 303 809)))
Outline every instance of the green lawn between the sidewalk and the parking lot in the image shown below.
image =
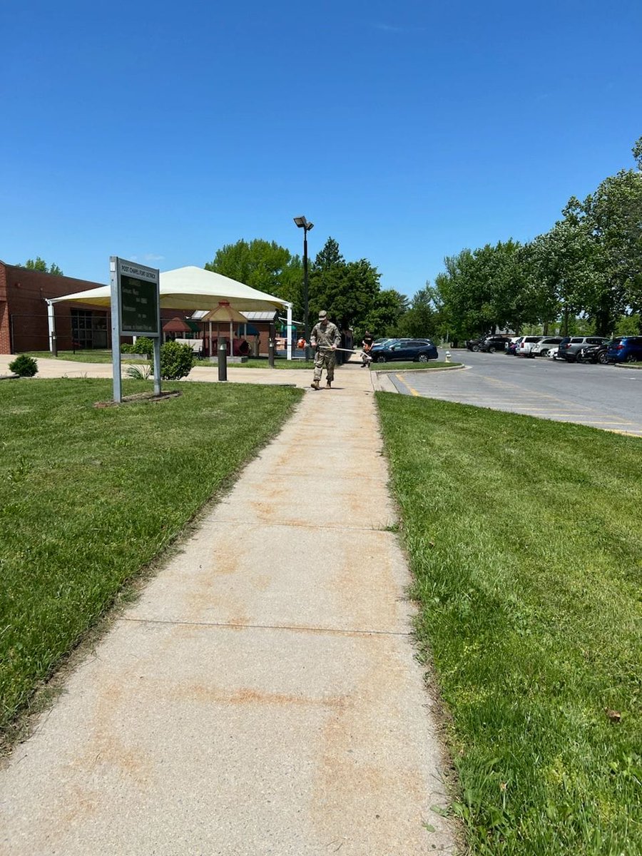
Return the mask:
POLYGON ((377 401, 473 853, 639 856, 642 441, 377 401))

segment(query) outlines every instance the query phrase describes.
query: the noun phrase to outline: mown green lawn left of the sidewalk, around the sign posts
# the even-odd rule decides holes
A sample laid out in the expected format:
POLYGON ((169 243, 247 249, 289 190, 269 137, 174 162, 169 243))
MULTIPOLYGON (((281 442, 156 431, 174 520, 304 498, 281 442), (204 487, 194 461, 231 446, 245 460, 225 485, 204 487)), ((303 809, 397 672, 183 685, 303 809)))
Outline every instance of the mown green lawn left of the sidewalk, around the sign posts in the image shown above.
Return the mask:
MULTIPOLYGON (((299 389, 165 383, 97 409, 104 380, 0 384, 0 735, 123 582, 272 437, 299 389)), ((150 383, 126 381, 126 395, 150 383)))

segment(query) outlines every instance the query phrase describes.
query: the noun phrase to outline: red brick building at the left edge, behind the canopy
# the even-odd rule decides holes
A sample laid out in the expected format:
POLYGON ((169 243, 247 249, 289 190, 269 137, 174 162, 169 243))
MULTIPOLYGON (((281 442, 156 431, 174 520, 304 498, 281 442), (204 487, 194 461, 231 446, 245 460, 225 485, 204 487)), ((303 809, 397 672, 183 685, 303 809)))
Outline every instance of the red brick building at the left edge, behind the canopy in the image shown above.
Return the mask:
MULTIPOLYGON (((0 261, 0 354, 49 350, 49 327, 45 300, 98 288, 104 282, 89 282, 71 276, 54 276, 0 261)), ((56 306, 58 348, 110 347, 109 312, 87 306, 56 306)))

